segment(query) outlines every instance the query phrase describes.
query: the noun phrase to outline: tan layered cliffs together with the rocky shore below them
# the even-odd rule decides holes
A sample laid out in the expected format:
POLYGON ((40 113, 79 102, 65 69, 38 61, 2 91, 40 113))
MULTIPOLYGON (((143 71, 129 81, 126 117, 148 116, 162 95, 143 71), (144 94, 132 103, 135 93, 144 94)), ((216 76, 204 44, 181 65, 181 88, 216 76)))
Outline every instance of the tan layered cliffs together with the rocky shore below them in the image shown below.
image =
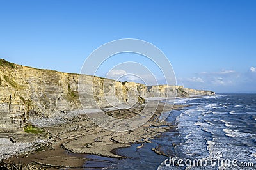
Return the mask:
MULTIPOLYGON (((171 127, 159 120, 161 113, 173 109, 174 101, 165 105, 158 100, 214 95, 213 91, 184 86, 147 86, 42 70, 4 59, 0 59, 0 91, 2 169, 4 165, 50 169, 83 167, 84 162, 90 160, 84 154, 125 158, 114 150, 132 143, 143 147, 143 143, 150 143, 150 139, 171 127), (150 98, 157 101, 148 100, 150 98), (84 109, 102 126, 95 125, 84 114, 84 109), (111 121, 106 120, 109 117, 111 121)), ((174 109, 180 107, 186 105, 174 105, 174 109)))

